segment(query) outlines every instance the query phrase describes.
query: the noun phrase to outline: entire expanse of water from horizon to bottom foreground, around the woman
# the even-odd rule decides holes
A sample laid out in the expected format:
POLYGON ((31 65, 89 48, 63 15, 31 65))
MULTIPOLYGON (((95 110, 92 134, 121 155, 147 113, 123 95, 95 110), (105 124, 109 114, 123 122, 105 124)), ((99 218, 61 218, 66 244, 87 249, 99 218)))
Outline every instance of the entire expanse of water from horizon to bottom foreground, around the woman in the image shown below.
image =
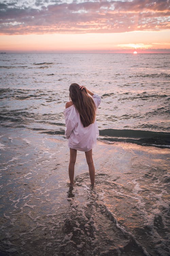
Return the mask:
POLYGON ((170 54, 0 55, 1 255, 168 256, 170 54), (69 86, 101 95, 96 185, 78 152, 69 186, 69 86))

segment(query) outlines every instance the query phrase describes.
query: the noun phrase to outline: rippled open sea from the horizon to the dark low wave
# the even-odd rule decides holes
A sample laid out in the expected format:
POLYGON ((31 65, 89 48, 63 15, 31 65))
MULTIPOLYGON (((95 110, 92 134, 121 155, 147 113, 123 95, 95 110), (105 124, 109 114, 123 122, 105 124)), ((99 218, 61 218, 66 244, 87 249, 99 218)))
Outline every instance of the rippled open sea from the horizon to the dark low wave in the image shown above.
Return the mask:
MULTIPOLYGON (((64 130, 69 86, 98 93, 99 130, 168 132, 170 54, 2 54, 2 125, 64 130)), ((106 132, 107 135, 107 132, 106 132)), ((124 134, 126 135, 126 134, 124 134)), ((127 136, 128 137, 128 136, 127 136)))

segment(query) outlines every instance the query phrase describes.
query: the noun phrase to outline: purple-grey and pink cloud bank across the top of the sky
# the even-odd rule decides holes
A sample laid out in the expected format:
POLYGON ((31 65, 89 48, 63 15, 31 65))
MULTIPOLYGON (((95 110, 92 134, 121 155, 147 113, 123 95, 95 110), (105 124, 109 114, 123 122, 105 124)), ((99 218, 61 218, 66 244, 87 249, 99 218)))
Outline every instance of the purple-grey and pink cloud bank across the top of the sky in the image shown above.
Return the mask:
POLYGON ((170 29, 169 0, 27 0, 0 3, 1 34, 170 29))

